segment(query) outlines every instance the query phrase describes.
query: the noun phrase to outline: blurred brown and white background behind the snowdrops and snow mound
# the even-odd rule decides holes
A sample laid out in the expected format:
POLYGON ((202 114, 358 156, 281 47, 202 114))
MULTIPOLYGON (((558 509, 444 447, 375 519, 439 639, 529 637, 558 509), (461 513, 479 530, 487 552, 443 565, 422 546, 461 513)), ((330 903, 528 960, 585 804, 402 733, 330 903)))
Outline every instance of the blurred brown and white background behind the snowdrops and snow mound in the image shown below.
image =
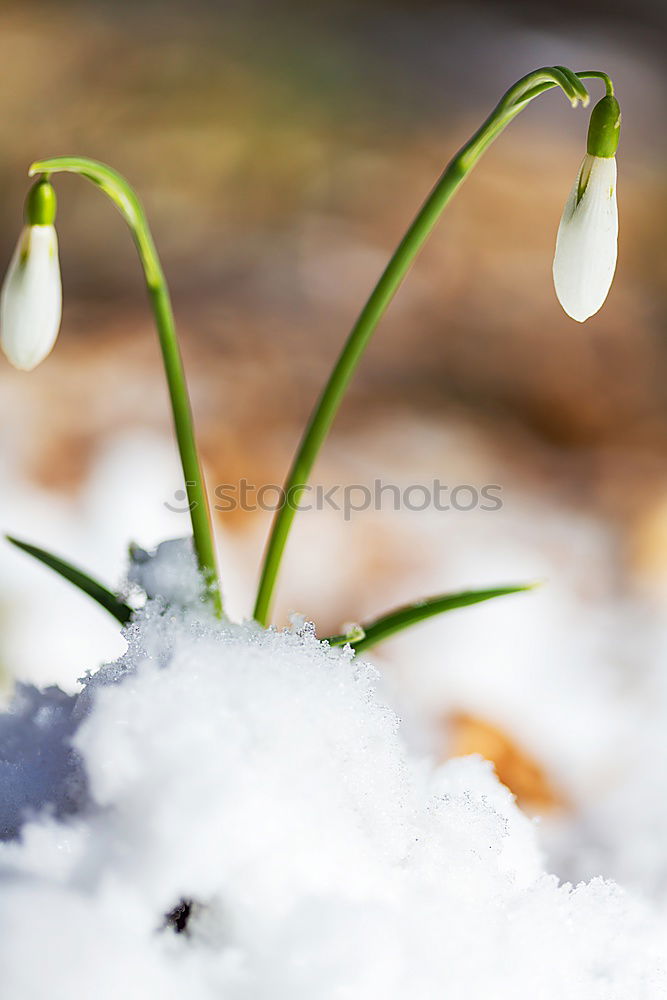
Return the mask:
MULTIPOLYGON (((526 808, 551 817, 554 866, 650 892, 667 885, 667 797, 656 795, 667 766, 666 21, 659 0, 0 8, 2 267, 33 159, 85 154, 136 185, 211 491, 282 481, 389 253, 504 90, 554 63, 613 77, 621 240, 603 310, 580 326, 553 292, 588 115, 552 92, 448 208, 315 477, 497 484, 502 509, 304 513, 276 621, 299 611, 323 635, 439 590, 544 581, 374 658, 424 752, 484 753, 526 808)), ((57 188, 63 328, 34 373, 0 366, 2 528, 116 586, 130 540, 155 545, 189 524, 166 506, 179 467, 128 233, 92 186, 62 177, 57 188)), ((238 617, 252 609, 268 525, 261 511, 217 517, 238 617)), ((8 545, 1 559, 6 688, 73 688, 122 651, 84 597, 8 545)))

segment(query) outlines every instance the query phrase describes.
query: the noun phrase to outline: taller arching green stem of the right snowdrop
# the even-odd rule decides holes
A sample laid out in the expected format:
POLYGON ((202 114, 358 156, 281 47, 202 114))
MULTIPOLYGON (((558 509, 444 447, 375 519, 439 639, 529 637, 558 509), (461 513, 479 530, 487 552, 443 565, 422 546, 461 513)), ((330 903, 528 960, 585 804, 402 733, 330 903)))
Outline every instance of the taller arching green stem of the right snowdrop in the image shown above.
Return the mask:
POLYGON ((576 106, 579 101, 587 104, 588 92, 581 82, 583 77, 600 77, 609 81, 605 74, 598 72, 576 74, 562 66, 548 66, 529 73, 510 87, 486 121, 447 165, 414 222, 399 243, 352 328, 329 381, 313 410, 285 481, 284 496, 289 498, 289 502, 283 503, 276 512, 264 554, 255 604, 255 618, 262 624, 265 625, 268 621, 285 544, 298 509, 299 499, 320 448, 329 433, 345 391, 357 370, 375 328, 398 291, 417 254, 424 246, 444 208, 454 197, 479 158, 503 129, 532 100, 552 87, 560 87, 573 106, 576 106))

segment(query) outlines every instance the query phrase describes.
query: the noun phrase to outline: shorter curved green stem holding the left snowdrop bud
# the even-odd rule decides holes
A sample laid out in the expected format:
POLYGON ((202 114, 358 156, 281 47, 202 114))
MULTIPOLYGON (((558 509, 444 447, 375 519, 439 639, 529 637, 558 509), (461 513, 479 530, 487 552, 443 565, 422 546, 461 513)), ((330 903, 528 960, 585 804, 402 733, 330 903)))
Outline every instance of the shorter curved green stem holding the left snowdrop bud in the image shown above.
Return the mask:
POLYGON ((222 599, 216 568, 211 518, 204 476, 195 443, 192 409, 183 371, 183 360, 176 338, 174 314, 167 281, 146 214, 135 191, 121 174, 106 164, 89 160, 87 157, 57 156, 53 159, 38 160, 30 167, 30 176, 34 174, 49 175, 60 171, 80 174, 99 187, 114 203, 130 227, 144 269, 146 286, 162 350, 176 440, 190 507, 197 560, 208 585, 211 601, 216 612, 221 614, 222 599))

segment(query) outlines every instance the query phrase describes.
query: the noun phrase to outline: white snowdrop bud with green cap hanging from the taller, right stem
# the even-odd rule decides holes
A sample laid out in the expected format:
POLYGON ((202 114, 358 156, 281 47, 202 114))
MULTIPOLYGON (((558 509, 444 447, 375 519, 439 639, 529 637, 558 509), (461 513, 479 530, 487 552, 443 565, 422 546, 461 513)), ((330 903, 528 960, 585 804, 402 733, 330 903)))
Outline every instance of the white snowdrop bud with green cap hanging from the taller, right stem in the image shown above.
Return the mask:
POLYGON ((616 269, 616 158, 621 112, 611 94, 591 114, 588 149, 558 228, 553 275, 565 312, 583 323, 607 298, 616 269))

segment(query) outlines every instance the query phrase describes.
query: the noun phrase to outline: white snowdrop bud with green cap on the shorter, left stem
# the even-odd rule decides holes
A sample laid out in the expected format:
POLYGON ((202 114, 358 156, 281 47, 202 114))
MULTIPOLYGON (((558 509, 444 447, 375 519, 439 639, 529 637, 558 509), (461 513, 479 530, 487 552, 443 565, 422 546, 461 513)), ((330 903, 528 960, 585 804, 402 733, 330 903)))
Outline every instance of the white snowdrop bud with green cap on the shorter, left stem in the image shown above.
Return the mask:
POLYGON ((62 286, 56 195, 39 180, 26 203, 26 224, 2 286, 2 349, 16 368, 30 371, 50 354, 60 329, 62 286))

